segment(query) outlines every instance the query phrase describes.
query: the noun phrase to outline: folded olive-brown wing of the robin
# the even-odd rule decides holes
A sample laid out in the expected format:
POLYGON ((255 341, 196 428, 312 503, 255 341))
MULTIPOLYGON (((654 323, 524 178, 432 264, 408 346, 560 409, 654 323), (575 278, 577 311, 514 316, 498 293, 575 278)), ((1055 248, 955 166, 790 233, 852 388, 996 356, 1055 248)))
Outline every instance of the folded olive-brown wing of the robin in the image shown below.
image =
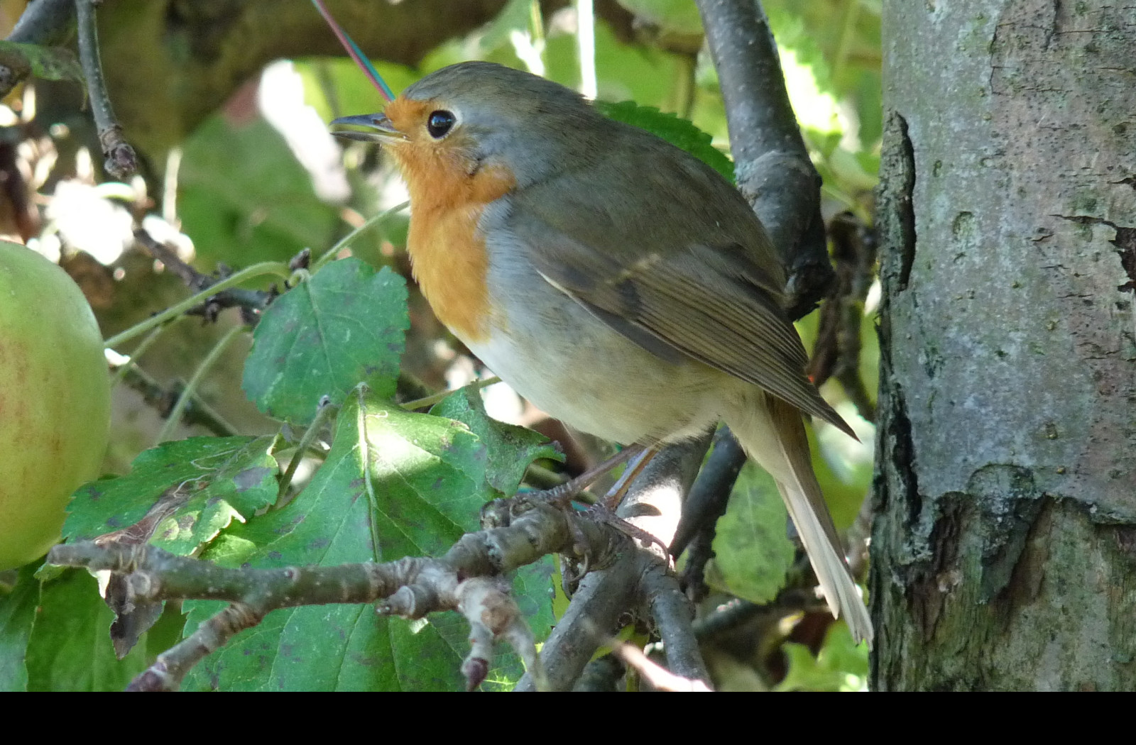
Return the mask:
POLYGON ((749 204, 701 161, 634 140, 586 181, 567 171, 512 194, 508 229, 536 270, 648 351, 700 360, 851 434, 804 376, 784 270, 749 204))

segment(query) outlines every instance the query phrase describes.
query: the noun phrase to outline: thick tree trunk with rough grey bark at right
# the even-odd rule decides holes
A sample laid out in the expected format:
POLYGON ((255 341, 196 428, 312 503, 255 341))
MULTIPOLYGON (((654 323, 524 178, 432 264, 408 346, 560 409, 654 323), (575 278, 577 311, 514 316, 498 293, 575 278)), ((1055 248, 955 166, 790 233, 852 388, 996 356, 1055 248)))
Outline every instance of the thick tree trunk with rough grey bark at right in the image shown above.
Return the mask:
POLYGON ((872 687, 1136 688, 1136 6, 884 5, 872 687))

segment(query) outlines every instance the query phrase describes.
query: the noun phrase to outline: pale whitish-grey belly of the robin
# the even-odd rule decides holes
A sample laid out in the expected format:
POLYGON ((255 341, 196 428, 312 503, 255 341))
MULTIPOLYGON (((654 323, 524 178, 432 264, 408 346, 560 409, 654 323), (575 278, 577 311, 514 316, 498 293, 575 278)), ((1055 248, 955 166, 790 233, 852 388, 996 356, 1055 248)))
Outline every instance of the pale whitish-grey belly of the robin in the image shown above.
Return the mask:
POLYGON ((662 360, 536 282, 496 294, 504 308, 495 310, 506 312, 495 313, 486 338, 466 342, 519 394, 576 429, 624 444, 683 440, 718 421, 736 382, 693 360, 662 360))

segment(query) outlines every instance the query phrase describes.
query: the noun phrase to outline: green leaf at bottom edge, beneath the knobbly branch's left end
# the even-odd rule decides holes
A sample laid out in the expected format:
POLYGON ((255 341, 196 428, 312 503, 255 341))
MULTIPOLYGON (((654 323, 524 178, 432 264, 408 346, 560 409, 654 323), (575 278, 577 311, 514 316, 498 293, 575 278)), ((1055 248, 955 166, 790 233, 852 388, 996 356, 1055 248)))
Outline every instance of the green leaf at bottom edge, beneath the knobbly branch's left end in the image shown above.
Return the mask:
POLYGON ((118 660, 110 643, 114 613, 98 583, 70 570, 43 585, 27 645, 28 690, 122 690, 145 669, 145 644, 118 660))

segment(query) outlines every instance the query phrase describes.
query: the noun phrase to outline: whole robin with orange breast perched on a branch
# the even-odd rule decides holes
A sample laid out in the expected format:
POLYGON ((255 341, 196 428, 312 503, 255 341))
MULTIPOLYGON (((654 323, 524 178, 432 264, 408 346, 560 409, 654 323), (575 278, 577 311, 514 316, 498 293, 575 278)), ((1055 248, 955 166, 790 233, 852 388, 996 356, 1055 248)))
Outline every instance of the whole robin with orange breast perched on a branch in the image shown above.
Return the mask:
POLYGON ((812 470, 802 413, 855 437, 804 374, 785 269, 698 158, 553 81, 483 61, 341 117, 410 195, 407 250, 441 320, 533 404, 624 445, 724 421, 777 484, 834 616, 871 620, 812 470))

